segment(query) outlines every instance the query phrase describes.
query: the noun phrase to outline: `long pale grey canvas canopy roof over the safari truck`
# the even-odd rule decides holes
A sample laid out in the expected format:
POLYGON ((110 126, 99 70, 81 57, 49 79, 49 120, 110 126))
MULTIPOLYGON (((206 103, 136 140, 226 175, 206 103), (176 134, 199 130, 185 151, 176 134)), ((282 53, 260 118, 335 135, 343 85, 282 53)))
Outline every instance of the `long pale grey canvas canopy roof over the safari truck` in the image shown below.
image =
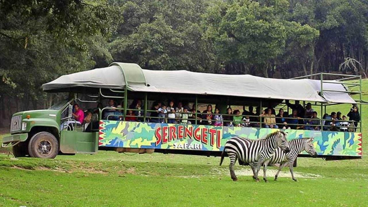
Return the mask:
MULTIPOLYGON (((346 92, 326 91, 321 97, 319 80, 145 70, 133 63, 112 63, 109 67, 68 74, 43 84, 42 88, 47 92, 59 92, 81 87, 124 89, 125 86, 130 91, 140 92, 355 103, 346 92)), ((323 90, 326 89, 346 91, 342 84, 333 83, 324 83, 323 90)))

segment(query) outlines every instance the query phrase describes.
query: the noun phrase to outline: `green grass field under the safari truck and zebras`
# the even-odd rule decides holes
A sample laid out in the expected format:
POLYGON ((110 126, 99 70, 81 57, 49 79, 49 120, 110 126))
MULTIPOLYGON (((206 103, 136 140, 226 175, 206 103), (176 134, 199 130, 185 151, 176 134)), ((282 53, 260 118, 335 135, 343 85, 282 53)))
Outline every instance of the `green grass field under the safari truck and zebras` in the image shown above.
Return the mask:
MULTIPOLYGON (((368 100, 368 80, 364 81, 368 100)), ((350 105, 328 107, 346 114, 350 105)), ((368 107, 363 109, 363 137, 368 107)), ((1 143, 1 136, 0 136, 1 143)), ((363 153, 368 150, 363 138, 363 153)), ((344 161, 298 158, 298 182, 286 177, 256 183, 230 179, 229 159, 192 155, 59 155, 14 159, 1 149, 1 206, 368 206, 368 158, 344 161)), ((237 172, 248 169, 237 166, 237 172)), ((275 168, 269 168, 275 169, 275 168)))

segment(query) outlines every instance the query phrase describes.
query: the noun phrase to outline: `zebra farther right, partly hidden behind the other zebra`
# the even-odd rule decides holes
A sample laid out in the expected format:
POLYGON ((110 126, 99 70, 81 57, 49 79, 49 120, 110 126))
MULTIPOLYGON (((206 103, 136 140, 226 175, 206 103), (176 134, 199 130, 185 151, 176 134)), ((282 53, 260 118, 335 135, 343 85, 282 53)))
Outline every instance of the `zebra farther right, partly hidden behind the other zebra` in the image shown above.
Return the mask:
MULTIPOLYGON (((273 156, 263 163, 263 180, 265 180, 265 182, 268 182, 266 178, 267 165, 280 163, 279 171, 277 171, 275 175, 275 180, 277 180, 277 176, 279 176, 279 172, 282 170, 282 168, 286 165, 289 165, 291 178, 293 178, 294 181, 297 181, 293 173, 293 164, 298 157, 298 154, 300 154, 302 151, 306 151, 312 157, 317 157, 318 155, 312 143, 313 139, 314 138, 301 138, 289 141, 290 152, 287 153, 281 150, 280 147, 277 148, 273 156)), ((254 168, 255 166, 255 164, 250 165, 252 168, 254 168)), ((252 170, 254 171, 254 169, 252 170)), ((253 175, 253 178, 255 179, 255 174, 253 175)))

